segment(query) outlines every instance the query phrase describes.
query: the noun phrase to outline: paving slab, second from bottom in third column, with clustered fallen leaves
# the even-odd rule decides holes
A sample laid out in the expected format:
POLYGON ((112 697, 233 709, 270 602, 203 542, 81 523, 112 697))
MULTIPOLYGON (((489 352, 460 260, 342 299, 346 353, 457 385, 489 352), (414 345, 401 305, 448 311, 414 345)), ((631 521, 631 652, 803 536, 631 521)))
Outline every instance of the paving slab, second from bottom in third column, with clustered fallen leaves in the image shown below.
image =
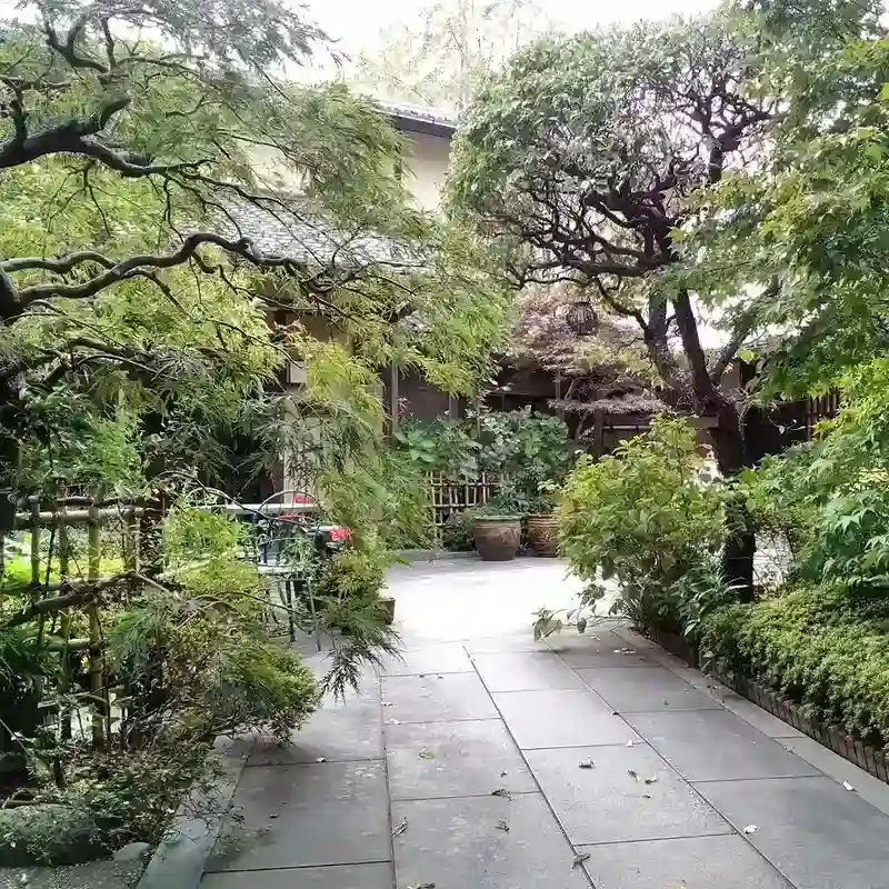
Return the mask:
POLYGON ((575 845, 731 832, 646 745, 529 750, 526 757, 575 845), (581 769, 590 759, 595 768, 581 769))

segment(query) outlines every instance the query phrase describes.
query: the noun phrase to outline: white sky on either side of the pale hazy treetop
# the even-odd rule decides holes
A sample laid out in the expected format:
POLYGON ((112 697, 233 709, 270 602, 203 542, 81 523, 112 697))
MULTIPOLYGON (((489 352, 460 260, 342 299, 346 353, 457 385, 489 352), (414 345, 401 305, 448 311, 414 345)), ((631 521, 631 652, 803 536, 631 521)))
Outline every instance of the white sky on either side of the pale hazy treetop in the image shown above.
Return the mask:
MULTIPOLYGON (((422 0, 303 0, 311 17, 347 56, 356 57, 377 43, 386 28, 414 19, 422 0)), ((712 9, 716 0, 548 0, 547 12, 566 31, 639 19, 693 16, 712 9)))

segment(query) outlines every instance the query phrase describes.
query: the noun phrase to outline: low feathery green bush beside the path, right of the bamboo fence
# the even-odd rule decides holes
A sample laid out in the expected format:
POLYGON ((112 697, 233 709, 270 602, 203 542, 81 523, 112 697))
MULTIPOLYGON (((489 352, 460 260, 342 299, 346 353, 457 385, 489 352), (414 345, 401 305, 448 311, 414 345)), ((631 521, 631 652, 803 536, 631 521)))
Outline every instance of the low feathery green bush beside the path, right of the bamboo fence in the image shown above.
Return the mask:
POLYGON ((317 706, 318 689, 299 656, 271 640, 256 569, 218 557, 179 583, 144 596, 110 628, 108 657, 132 696, 124 735, 141 736, 162 706, 152 735, 168 742, 250 728, 286 739, 317 706))

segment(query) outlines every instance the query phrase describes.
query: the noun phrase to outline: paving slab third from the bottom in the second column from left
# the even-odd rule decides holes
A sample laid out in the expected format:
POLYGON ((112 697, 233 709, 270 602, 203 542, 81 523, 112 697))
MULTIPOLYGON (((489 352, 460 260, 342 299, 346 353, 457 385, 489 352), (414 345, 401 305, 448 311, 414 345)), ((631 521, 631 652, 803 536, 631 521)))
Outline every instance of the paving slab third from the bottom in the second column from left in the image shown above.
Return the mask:
POLYGON ((471 673, 393 676, 382 680, 383 720, 452 722, 456 719, 496 719, 498 713, 481 680, 471 673))

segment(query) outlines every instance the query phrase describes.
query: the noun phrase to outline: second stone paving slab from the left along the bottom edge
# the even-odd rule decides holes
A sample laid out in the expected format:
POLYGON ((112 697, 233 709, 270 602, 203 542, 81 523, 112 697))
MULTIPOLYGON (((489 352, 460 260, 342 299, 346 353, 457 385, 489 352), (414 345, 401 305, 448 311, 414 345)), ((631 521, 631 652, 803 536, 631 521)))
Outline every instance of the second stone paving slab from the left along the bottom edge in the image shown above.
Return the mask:
POLYGON ((539 793, 396 802, 392 822, 402 819, 398 889, 589 889, 539 793))

